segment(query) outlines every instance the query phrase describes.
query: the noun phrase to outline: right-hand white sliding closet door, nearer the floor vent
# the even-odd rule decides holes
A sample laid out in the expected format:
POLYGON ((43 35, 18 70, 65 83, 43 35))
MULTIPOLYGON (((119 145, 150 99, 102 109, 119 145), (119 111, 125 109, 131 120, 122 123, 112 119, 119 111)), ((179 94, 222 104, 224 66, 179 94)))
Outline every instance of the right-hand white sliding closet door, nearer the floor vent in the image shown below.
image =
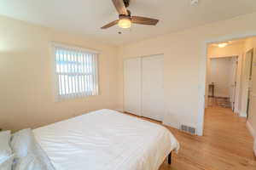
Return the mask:
POLYGON ((164 116, 163 55, 142 59, 142 116, 162 121, 164 116))

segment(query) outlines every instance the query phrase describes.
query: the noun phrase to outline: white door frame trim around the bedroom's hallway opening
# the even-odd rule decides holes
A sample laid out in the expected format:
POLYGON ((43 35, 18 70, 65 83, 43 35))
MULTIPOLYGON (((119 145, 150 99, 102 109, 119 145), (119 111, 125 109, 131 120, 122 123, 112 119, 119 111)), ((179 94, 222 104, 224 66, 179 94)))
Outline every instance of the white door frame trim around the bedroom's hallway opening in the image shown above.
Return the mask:
POLYGON ((199 96, 199 114, 197 117, 197 135, 203 136, 204 118, 205 118, 205 99, 206 99, 206 81, 207 81, 207 52, 208 45, 211 43, 226 42, 230 40, 243 39, 247 37, 256 37, 256 31, 248 33, 231 34, 224 37, 215 37, 201 43, 201 67, 200 67, 200 96, 199 96))

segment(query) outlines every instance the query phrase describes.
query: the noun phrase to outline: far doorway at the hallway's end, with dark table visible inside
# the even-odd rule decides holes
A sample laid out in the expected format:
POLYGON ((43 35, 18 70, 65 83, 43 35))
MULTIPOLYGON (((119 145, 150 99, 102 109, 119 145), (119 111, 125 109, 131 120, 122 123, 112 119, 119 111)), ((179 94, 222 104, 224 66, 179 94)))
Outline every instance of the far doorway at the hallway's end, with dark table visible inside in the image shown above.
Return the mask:
POLYGON ((208 106, 218 105, 236 109, 236 83, 238 56, 212 57, 209 59, 208 106))

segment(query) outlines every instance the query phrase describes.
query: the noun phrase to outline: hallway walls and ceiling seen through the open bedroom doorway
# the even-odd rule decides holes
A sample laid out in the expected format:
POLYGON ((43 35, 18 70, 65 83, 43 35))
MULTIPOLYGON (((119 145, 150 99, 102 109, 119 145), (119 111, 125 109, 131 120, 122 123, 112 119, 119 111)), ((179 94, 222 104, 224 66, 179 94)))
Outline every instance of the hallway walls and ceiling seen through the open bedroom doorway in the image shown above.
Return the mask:
POLYGON ((215 98, 213 101, 215 101, 217 105, 230 107, 238 116, 248 117, 250 96, 252 93, 254 48, 256 48, 256 37, 208 44, 206 108, 212 105, 212 99, 215 98), (230 66, 227 66, 227 59, 232 60, 230 61, 230 66), (225 66, 229 67, 230 73, 228 70, 224 71, 223 68, 220 68, 219 63, 221 60, 226 60, 225 66), (216 64, 213 65, 212 68, 212 63, 214 64, 214 62, 218 63, 218 66, 216 66, 216 64), (217 67, 215 68, 215 71, 218 71, 219 73, 220 82, 216 82, 216 79, 212 80, 211 71, 214 67, 217 67), (229 77, 227 77, 228 73, 230 74, 229 77), (228 80, 230 81, 230 84, 228 83, 228 80), (229 92, 228 86, 224 86, 224 84, 229 84, 229 92), (222 91, 222 94, 219 94, 220 91, 222 91), (227 93, 230 95, 227 95, 227 93))

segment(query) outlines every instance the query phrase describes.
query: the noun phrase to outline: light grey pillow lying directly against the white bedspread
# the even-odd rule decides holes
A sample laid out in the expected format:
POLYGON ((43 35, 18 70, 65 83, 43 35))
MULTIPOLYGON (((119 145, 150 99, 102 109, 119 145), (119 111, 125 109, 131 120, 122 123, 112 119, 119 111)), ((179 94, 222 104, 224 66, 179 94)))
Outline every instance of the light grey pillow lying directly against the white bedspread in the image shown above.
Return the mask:
POLYGON ((44 150, 37 143, 31 129, 13 134, 11 147, 15 153, 13 170, 54 170, 44 150))

